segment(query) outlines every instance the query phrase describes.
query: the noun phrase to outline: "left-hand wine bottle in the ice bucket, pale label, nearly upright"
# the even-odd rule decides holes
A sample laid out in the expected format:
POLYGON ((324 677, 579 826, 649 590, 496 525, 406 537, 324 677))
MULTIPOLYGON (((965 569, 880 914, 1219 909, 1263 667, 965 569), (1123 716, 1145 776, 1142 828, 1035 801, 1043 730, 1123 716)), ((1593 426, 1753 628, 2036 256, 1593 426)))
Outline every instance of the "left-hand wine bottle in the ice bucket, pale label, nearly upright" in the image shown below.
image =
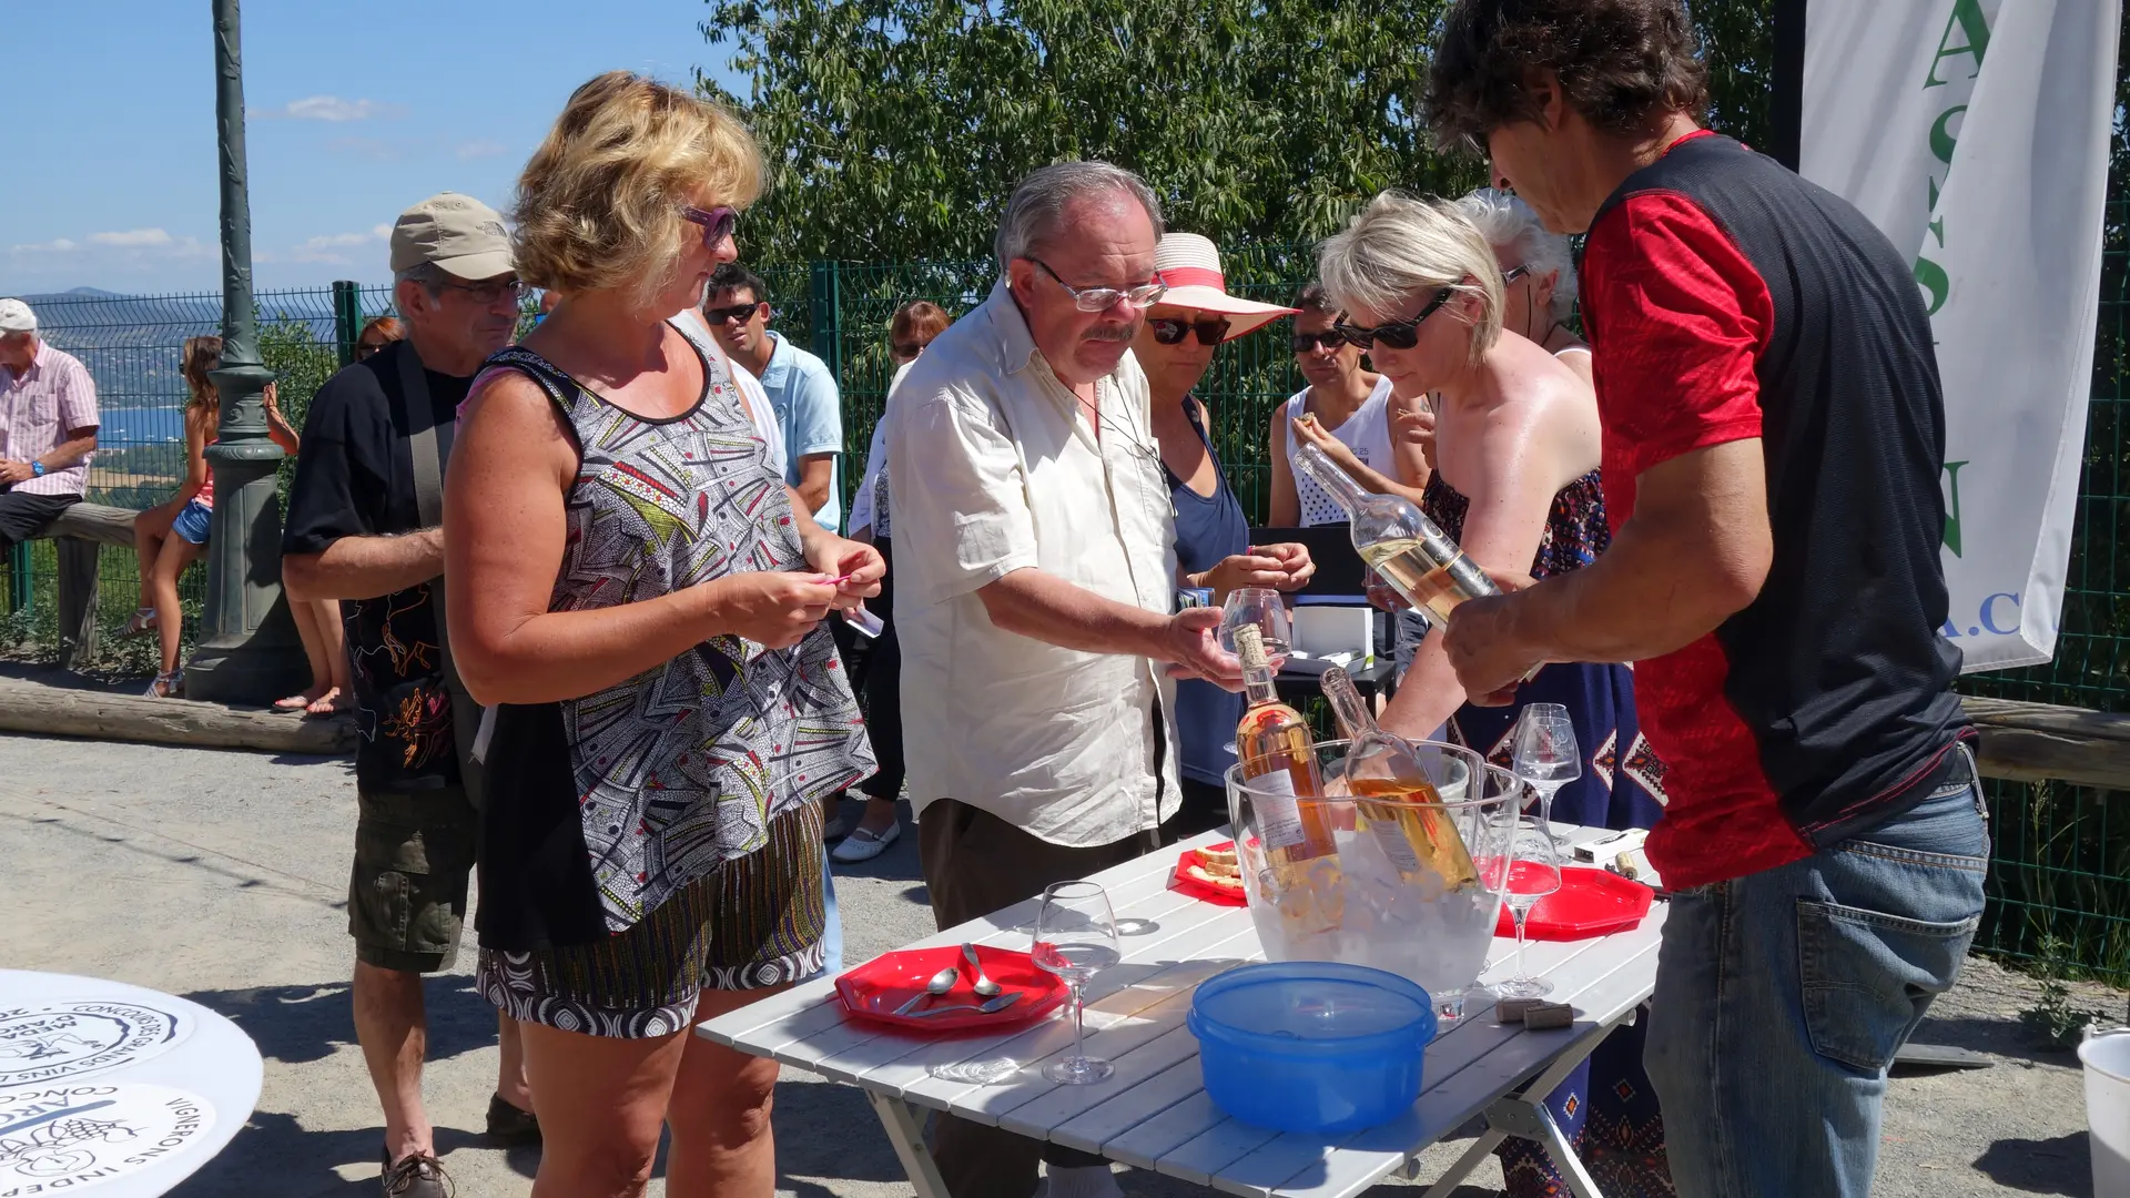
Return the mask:
POLYGON ((1272 661, 1257 625, 1235 629, 1235 657, 1248 708, 1235 725, 1235 759, 1252 782, 1257 838, 1274 861, 1308 861, 1338 851, 1323 799, 1325 780, 1316 767, 1316 735, 1301 712, 1280 701, 1272 684, 1272 661), (1269 795, 1265 791, 1272 791, 1269 795))

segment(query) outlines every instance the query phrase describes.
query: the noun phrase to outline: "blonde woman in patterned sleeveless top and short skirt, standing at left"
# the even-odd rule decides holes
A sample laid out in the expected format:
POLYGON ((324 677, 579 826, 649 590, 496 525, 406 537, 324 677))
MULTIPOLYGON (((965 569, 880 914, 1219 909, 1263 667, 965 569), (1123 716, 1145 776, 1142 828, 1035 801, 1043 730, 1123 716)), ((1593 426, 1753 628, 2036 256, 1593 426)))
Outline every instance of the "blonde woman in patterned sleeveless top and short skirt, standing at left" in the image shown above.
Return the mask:
POLYGON ((792 503, 694 320, 760 156, 628 72, 518 183, 564 298, 475 382, 445 490, 452 652, 486 746, 477 985, 524 1023, 535 1198, 769 1198, 775 1062, 688 1030, 822 961, 820 797, 873 772, 822 618, 871 546, 792 503))

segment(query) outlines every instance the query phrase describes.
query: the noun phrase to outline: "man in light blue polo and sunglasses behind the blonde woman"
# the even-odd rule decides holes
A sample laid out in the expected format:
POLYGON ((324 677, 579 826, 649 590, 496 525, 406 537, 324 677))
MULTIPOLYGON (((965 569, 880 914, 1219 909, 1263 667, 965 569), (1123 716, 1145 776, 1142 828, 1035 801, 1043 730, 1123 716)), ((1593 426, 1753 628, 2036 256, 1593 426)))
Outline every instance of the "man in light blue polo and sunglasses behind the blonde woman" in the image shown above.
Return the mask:
POLYGON ((769 392, 769 407, 784 428, 784 482, 814 509, 814 520, 841 531, 843 488, 837 477, 843 456, 843 396, 829 362, 792 345, 769 328, 763 279, 739 262, 718 266, 703 298, 703 318, 718 345, 769 392))

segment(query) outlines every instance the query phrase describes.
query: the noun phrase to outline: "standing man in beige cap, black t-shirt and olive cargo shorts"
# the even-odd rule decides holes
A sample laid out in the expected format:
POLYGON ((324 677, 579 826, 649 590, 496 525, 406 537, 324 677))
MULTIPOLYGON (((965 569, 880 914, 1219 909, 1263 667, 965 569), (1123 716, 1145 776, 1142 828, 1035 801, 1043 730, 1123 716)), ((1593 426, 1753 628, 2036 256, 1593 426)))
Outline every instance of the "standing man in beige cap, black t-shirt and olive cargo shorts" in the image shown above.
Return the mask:
MULTIPOLYGON (((445 684, 441 458, 481 362, 518 326, 503 217, 445 192, 392 228, 396 341, 311 401, 281 537, 290 599, 339 599, 356 723, 356 1038, 386 1115, 388 1196, 447 1194, 422 1106, 422 974, 452 966, 479 819, 445 684), (432 431, 432 439, 422 435, 432 431), (426 458, 426 460, 424 460, 426 458), (426 469, 424 469, 426 467, 426 469), (424 477, 428 475, 428 477, 424 477), (428 512, 428 518, 424 514, 428 512)), ((492 1134, 537 1136, 518 1034, 503 1021, 492 1134)))

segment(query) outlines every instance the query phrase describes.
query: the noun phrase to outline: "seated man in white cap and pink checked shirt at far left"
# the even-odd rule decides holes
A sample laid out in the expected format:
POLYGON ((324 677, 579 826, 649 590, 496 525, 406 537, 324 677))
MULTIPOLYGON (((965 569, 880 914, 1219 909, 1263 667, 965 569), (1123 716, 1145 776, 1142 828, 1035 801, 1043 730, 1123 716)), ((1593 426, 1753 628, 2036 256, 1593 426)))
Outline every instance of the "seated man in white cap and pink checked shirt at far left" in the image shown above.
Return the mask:
POLYGON ((81 501, 96 452, 96 382, 36 335, 36 313, 0 298, 0 550, 81 501))

